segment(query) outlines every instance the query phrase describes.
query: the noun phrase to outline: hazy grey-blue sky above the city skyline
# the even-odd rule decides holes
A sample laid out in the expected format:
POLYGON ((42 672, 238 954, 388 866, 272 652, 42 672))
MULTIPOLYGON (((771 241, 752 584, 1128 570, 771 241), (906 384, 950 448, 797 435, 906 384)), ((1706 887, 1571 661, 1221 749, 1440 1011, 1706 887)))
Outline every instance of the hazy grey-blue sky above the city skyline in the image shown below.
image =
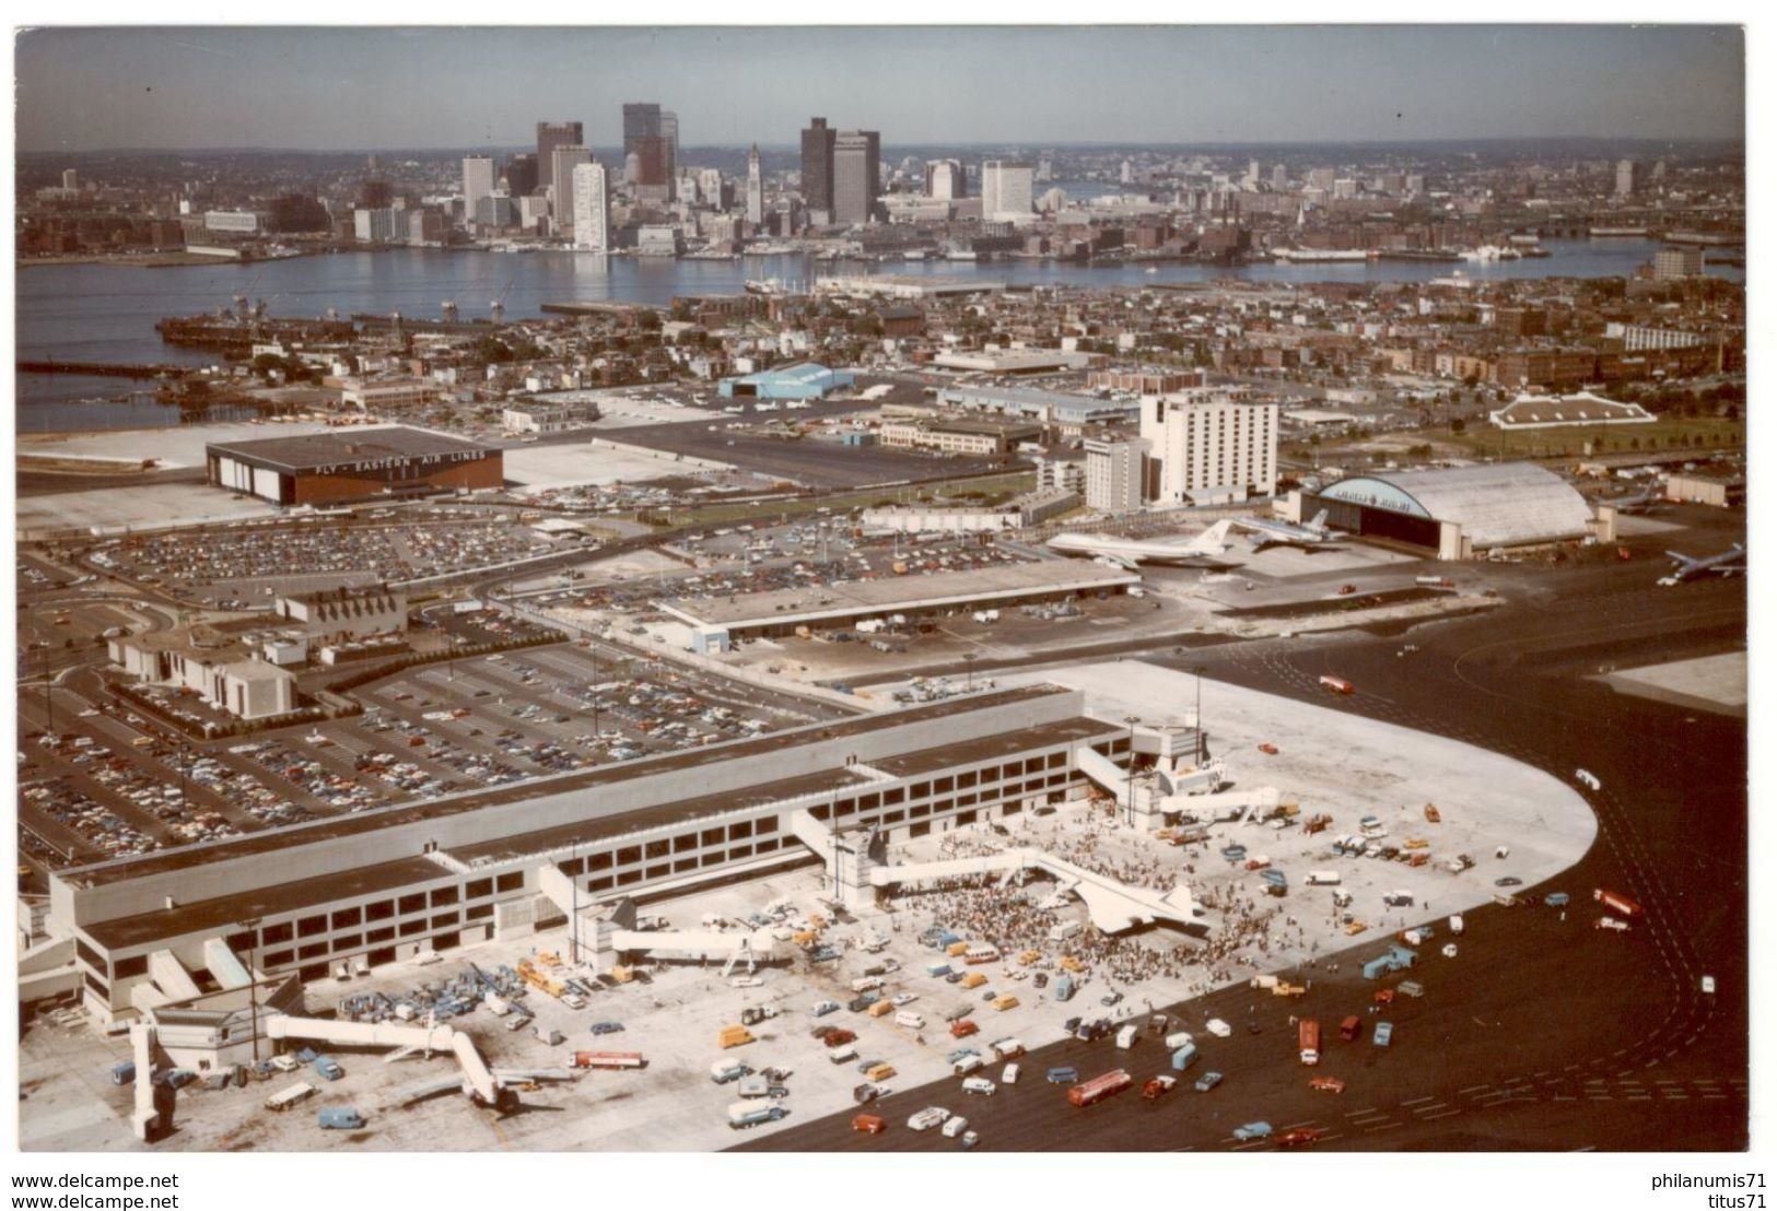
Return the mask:
POLYGON ((1743 137, 1736 28, 50 28, 18 39, 18 147, 467 147, 538 119, 620 142, 1743 137))

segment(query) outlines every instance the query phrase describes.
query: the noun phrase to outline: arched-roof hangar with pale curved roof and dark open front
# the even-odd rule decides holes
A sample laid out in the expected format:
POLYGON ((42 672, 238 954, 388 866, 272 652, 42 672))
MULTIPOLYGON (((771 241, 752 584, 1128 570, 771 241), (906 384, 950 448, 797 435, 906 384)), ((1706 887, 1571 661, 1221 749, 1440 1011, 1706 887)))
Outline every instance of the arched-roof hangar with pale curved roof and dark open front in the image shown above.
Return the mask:
POLYGON ((1420 547, 1438 559, 1615 538, 1614 513, 1594 515, 1573 485, 1528 462, 1370 472, 1290 495, 1295 520, 1326 510, 1336 531, 1420 547))

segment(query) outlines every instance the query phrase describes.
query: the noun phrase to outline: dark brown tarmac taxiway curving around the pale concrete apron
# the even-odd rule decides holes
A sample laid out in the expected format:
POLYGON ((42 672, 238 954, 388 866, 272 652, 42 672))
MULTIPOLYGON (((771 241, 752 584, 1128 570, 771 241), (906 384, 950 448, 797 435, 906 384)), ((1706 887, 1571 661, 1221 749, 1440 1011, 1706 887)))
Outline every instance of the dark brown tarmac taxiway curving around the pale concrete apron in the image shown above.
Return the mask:
MULTIPOLYGON (((1356 973, 1381 950, 1372 939, 1303 970, 1313 987, 1297 1003, 1226 989, 1167 1007, 1187 1028, 1207 1014, 1237 1023, 1231 1039, 1207 1041, 1208 1058, 1192 1071, 1226 1072, 1212 1094, 1183 1087, 1159 1103, 1125 1094, 1073 1110, 1043 1083, 1048 1065, 1093 1076, 1127 1064, 1144 1078, 1162 1071, 1164 1053, 1151 1041, 1134 1053, 1109 1041, 1068 1042, 1025 1058, 1024 1080, 992 1097, 967 1097, 956 1081, 894 1094, 881 1103, 892 1124, 881 1136, 855 1135, 846 1113, 741 1147, 954 1149, 904 1128, 912 1112, 942 1104, 970 1117, 983 1149, 1000 1151, 1057 1142, 1077 1151, 1274 1147, 1231 1138, 1233 1126, 1253 1119, 1279 1131, 1319 1126, 1320 1149, 1743 1149, 1745 721, 1622 696, 1592 675, 1733 650, 1745 637, 1745 591, 1743 581, 1654 591, 1647 572, 1644 559, 1525 570, 1535 591, 1491 614, 1416 630, 1420 652, 1406 657, 1397 655, 1398 636, 1367 634, 1151 657, 1452 735, 1562 780, 1578 765, 1601 780, 1603 790, 1589 795, 1599 813, 1592 851, 1550 884, 1518 890, 1526 898, 1567 891, 1574 906, 1566 920, 1548 907, 1468 913, 1459 959, 1432 952, 1418 973, 1427 996, 1386 1010, 1397 1026, 1391 1048, 1329 1042, 1320 1069, 1294 1058, 1288 1014, 1317 1016, 1329 1032, 1345 1014, 1375 1021, 1367 1012, 1375 985, 1356 973), (1317 685, 1322 673, 1352 680, 1358 693, 1327 698, 1317 685), (1637 898, 1647 920, 1630 934, 1592 929, 1596 886, 1637 898), (1327 961, 1342 971, 1333 975, 1327 961), (1715 996, 1699 991, 1704 973, 1718 980, 1715 996), (1246 1033, 1249 1017, 1262 1033, 1246 1033), (1345 1078, 1347 1092, 1310 1092, 1315 1072, 1345 1078)), ((1214 717, 1205 723, 1214 737, 1214 717)))

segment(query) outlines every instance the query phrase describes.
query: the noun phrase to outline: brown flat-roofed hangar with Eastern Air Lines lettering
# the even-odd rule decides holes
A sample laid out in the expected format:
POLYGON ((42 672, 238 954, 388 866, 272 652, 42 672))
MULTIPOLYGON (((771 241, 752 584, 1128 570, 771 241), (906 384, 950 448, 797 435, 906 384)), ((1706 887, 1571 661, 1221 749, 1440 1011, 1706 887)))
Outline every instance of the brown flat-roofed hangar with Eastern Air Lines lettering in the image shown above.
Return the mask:
POLYGON ((204 447, 204 478, 272 504, 343 504, 499 488, 498 446, 402 424, 204 447))

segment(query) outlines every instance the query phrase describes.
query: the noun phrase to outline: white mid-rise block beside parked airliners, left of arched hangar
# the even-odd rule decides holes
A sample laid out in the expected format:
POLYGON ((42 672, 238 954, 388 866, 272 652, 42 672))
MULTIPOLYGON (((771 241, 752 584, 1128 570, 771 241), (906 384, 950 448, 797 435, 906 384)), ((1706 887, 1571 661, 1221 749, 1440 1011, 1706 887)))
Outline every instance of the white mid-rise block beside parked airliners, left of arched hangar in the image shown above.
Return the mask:
POLYGON ((1278 487, 1278 405, 1235 403, 1187 391, 1141 401, 1141 437, 1153 449, 1150 501, 1185 504, 1231 488, 1272 495, 1278 487))

